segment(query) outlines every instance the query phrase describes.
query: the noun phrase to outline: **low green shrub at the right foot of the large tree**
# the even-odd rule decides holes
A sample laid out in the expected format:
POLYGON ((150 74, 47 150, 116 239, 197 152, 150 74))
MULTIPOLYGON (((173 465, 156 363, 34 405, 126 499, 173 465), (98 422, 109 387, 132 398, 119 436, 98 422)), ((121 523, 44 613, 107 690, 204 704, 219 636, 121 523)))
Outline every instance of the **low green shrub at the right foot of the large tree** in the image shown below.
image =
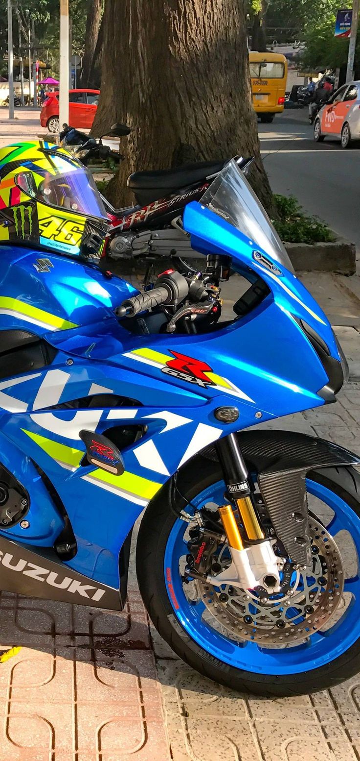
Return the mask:
POLYGON ((294 196, 273 196, 278 219, 273 225, 285 243, 328 243, 335 240, 332 231, 317 217, 310 217, 294 196))

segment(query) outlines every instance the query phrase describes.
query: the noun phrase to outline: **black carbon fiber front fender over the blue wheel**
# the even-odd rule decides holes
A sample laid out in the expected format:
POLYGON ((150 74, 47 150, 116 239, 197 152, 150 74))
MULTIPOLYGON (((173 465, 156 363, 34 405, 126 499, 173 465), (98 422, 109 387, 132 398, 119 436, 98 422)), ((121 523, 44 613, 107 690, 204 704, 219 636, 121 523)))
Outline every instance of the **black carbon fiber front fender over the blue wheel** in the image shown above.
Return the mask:
MULTIPOLYGON (((360 464, 360 457, 338 444, 292 431, 242 431, 242 455, 258 484, 279 540, 292 560, 310 562, 308 500, 305 477, 327 466, 360 464)), ((217 459, 214 447, 205 456, 217 459)))

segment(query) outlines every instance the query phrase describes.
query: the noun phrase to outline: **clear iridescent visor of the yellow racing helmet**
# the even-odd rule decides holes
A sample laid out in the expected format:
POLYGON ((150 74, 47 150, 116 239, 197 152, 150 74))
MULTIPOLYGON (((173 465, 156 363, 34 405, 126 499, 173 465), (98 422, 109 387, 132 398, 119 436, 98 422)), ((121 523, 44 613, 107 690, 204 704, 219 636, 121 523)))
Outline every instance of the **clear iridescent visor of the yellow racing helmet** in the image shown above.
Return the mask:
POLYGON ((91 172, 55 152, 48 153, 46 158, 47 167, 36 167, 36 177, 30 171, 20 172, 14 177, 23 193, 58 209, 107 220, 105 206, 91 172))

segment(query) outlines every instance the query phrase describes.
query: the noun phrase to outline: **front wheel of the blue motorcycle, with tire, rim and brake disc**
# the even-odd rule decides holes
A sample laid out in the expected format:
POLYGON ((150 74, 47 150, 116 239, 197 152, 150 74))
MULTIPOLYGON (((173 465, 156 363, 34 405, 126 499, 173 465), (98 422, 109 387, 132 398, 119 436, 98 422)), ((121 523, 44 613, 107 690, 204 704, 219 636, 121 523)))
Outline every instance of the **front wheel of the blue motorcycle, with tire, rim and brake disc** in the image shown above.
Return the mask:
MULTIPOLYGON (((359 474, 351 467, 308 474, 311 565, 292 568, 283 594, 264 603, 254 591, 189 581, 194 515, 203 510, 214 521, 226 486, 219 463, 200 455, 178 483, 171 506, 166 490, 150 503, 137 540, 141 595, 172 650, 215 682, 261 696, 313 693, 357 673, 359 474), (190 522, 176 517, 182 509, 190 522)), ((216 545, 212 563, 216 572, 229 565, 226 545, 216 545)))

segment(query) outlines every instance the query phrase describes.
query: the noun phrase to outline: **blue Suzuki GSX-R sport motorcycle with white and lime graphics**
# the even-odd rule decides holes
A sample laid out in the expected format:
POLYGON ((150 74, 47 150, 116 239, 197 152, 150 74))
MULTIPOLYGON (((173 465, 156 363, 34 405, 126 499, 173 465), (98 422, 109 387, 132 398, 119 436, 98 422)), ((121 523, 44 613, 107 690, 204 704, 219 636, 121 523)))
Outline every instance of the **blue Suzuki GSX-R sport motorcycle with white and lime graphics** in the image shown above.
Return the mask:
POLYGON ((0 584, 122 610, 145 508, 141 595, 181 658, 265 696, 331 687, 360 669, 360 458, 253 427, 334 402, 346 361, 235 161, 184 226, 204 271, 144 293, 2 244, 0 584), (230 265, 248 287, 220 322, 230 265))

